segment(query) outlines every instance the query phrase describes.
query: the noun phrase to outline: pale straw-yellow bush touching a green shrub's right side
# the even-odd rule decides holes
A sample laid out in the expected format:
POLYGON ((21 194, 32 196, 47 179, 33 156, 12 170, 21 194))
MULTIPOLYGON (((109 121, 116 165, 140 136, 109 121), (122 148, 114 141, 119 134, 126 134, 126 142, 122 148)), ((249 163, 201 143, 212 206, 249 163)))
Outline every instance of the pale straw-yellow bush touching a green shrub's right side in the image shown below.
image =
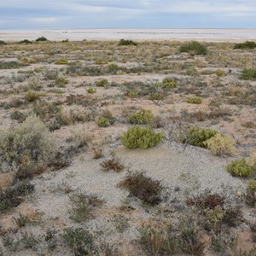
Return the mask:
POLYGON ((205 142, 212 154, 231 154, 233 152, 233 140, 230 137, 217 133, 205 142))

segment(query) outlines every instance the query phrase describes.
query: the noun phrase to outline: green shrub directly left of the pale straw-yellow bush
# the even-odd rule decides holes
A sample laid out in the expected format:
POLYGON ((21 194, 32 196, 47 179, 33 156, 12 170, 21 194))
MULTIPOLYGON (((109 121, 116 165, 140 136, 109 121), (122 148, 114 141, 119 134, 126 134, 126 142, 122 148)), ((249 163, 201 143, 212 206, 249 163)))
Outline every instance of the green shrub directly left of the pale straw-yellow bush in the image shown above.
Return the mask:
POLYGON ((211 137, 214 137, 218 131, 213 129, 207 129, 202 127, 191 127, 185 131, 183 143, 189 143, 197 147, 206 147, 206 141, 211 137))

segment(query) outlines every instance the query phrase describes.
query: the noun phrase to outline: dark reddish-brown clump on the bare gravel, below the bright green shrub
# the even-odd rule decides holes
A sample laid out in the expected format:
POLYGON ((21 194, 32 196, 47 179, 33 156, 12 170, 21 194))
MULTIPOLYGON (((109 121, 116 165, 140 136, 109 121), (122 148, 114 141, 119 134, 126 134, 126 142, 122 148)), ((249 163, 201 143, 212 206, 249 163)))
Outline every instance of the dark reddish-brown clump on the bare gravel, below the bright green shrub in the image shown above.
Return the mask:
POLYGON ((130 195, 136 196, 152 206, 160 202, 160 193, 163 189, 160 181, 146 177, 143 172, 129 173, 119 183, 119 187, 127 189, 130 195))

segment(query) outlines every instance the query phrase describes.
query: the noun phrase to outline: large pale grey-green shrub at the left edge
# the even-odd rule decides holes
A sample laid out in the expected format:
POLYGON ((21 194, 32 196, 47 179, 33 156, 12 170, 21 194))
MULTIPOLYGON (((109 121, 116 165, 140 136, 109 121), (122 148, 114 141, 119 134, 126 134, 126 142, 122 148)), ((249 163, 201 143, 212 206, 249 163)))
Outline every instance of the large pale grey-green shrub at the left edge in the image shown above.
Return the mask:
POLYGON ((19 126, 0 132, 2 169, 31 167, 48 162, 55 152, 55 143, 43 122, 29 116, 19 126))

